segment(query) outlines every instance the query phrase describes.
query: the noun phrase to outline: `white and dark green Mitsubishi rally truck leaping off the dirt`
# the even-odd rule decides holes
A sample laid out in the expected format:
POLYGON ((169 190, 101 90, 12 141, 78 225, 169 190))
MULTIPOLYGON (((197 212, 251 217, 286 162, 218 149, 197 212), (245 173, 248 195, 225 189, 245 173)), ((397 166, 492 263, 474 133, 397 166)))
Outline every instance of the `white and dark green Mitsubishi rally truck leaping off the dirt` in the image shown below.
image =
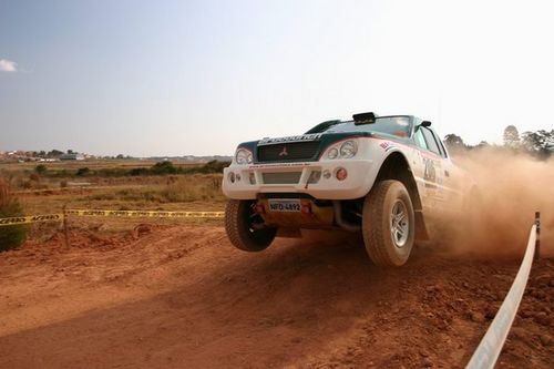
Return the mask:
POLYGON ((239 144, 224 170, 225 228, 246 252, 301 228, 361 232, 375 264, 400 266, 432 223, 463 212, 463 176, 431 122, 355 114, 239 144))

